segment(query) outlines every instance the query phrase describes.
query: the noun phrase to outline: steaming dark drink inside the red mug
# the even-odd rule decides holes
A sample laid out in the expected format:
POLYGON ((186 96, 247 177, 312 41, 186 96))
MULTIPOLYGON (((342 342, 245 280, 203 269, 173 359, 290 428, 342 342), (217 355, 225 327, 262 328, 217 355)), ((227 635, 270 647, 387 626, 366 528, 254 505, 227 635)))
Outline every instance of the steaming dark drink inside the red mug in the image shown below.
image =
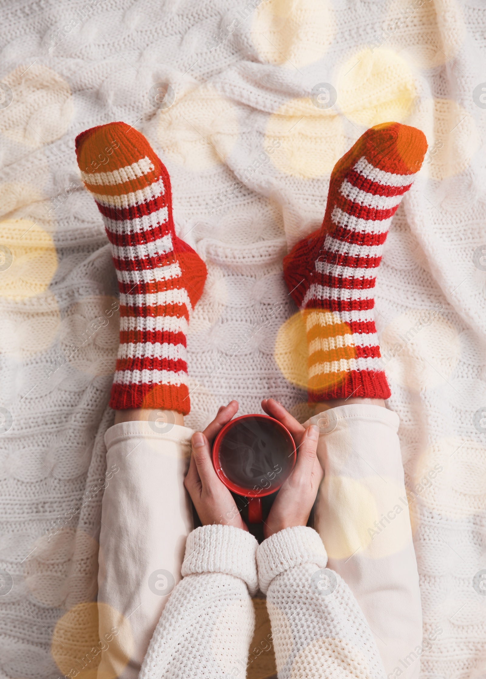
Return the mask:
POLYGON ((295 462, 286 430, 272 418, 235 420, 219 443, 221 470, 231 483, 255 494, 278 490, 295 462))

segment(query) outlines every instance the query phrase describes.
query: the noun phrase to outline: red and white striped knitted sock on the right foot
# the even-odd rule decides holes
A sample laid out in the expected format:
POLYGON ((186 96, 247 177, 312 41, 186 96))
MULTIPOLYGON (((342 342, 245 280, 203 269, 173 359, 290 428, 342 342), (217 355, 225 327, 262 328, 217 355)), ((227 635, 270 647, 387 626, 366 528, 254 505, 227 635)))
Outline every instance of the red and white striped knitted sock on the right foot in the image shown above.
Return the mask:
POLYGON ((390 397, 373 288, 390 222, 426 150, 413 127, 384 123, 364 132, 333 169, 322 227, 284 257, 286 285, 305 319, 314 403, 390 397))

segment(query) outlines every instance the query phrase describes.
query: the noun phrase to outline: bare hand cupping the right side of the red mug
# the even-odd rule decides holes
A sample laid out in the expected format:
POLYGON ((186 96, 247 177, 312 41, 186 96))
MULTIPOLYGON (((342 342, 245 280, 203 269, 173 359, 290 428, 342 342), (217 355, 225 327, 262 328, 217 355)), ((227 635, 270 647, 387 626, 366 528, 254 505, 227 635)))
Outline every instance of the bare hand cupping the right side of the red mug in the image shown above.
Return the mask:
MULTIPOLYGON (((283 406, 280 407, 284 409, 283 406)), ((290 415, 288 418, 293 420, 290 415)), ((301 424, 298 422, 297 424, 302 428, 302 433, 299 432, 297 463, 272 504, 272 509, 263 526, 265 538, 269 538, 284 528, 307 525, 319 484, 324 475, 316 455, 319 428, 312 425, 304 429, 301 424)))

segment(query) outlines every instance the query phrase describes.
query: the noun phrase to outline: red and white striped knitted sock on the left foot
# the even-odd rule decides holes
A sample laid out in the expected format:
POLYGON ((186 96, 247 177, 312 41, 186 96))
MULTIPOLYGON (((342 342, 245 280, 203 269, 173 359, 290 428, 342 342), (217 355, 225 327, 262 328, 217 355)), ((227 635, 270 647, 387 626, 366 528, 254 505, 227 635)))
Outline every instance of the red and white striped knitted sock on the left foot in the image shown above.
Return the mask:
POLYGON ((147 139, 122 122, 81 132, 76 154, 105 223, 120 291, 110 405, 187 415, 185 335, 206 265, 175 235, 168 172, 147 139))

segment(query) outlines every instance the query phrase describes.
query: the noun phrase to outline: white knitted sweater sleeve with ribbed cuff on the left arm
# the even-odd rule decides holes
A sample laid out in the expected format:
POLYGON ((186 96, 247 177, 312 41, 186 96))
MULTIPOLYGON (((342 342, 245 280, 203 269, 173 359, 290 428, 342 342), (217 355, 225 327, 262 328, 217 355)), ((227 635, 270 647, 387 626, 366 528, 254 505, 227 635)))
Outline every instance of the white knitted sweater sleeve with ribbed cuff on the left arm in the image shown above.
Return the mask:
POLYGON ((257 540, 232 526, 189 534, 176 586, 155 628, 139 679, 244 679, 255 628, 257 540))

